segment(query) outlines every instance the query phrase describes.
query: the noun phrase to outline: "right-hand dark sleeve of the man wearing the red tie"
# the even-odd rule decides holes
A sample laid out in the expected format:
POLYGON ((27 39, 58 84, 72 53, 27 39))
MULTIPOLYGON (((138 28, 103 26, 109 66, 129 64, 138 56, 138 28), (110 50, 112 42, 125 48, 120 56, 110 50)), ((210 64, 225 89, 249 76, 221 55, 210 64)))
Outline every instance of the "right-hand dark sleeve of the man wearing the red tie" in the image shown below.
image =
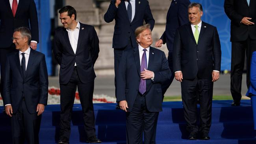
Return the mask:
POLYGON ((37 43, 39 43, 37 8, 35 6, 34 0, 30 0, 29 22, 30 22, 30 30, 31 30, 31 40, 32 41, 37 41, 37 43))

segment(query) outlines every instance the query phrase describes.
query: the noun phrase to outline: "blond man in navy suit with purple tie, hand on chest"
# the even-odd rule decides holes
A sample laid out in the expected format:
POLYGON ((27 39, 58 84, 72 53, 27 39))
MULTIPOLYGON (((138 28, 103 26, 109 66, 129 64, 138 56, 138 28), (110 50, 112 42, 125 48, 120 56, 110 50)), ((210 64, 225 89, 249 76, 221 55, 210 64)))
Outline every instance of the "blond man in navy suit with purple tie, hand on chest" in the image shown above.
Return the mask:
POLYGON ((161 82, 171 78, 164 52, 150 47, 150 26, 135 30, 139 43, 123 52, 117 74, 117 102, 126 111, 126 143, 156 143, 156 124, 162 111, 161 82))

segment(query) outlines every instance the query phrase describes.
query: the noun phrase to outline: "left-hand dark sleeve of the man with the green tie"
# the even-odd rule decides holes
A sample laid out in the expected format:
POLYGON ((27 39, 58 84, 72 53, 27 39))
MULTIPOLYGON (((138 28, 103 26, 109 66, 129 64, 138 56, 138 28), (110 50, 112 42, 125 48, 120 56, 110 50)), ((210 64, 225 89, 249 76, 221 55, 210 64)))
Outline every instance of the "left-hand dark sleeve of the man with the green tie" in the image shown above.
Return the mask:
POLYGON ((181 57, 181 39, 180 32, 176 30, 173 43, 173 72, 181 70, 180 57, 181 57))

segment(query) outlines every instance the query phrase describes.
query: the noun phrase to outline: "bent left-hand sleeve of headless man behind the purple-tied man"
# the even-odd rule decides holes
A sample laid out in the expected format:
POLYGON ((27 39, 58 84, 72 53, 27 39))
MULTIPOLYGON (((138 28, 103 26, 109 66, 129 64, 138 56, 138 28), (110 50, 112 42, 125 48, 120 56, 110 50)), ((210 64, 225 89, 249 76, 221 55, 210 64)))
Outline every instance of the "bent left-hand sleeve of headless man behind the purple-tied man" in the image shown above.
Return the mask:
POLYGON ((117 7, 115 6, 115 0, 111 0, 108 10, 104 15, 105 22, 112 22, 117 14, 117 7))

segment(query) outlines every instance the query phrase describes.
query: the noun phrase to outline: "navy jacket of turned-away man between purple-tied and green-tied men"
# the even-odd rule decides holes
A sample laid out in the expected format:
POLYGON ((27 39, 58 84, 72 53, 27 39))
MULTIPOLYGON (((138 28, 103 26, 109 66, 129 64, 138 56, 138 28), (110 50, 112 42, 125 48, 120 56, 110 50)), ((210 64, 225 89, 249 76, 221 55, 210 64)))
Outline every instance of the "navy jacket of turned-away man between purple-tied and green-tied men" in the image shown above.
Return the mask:
POLYGON ((163 40, 163 44, 167 43, 167 48, 171 52, 173 52, 176 29, 189 22, 187 15, 187 6, 189 4, 189 0, 173 0, 167 12, 165 31, 160 39, 163 40))

